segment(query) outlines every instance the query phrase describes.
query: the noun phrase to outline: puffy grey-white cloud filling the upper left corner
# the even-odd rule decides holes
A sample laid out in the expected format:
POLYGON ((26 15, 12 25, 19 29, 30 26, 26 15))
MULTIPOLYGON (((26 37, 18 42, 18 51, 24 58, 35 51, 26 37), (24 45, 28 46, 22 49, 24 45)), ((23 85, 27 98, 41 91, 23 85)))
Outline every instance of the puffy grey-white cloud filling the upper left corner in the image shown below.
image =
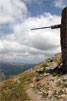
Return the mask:
POLYGON ((27 7, 21 0, 0 0, 0 24, 23 21, 27 7))

